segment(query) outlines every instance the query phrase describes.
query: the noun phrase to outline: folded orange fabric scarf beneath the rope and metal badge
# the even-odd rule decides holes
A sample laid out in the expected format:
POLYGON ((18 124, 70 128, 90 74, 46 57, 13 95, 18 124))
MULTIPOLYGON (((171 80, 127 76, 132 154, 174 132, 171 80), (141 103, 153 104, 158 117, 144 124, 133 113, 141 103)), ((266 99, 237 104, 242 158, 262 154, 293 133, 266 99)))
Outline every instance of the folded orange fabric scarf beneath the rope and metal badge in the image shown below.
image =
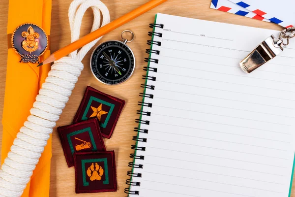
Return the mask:
MULTIPOLYGON (((51 24, 51 0, 9 0, 7 34, 24 23, 40 26, 48 35, 51 24)), ((50 56, 47 50, 40 61, 50 56)), ((50 65, 19 63, 20 56, 8 49, 6 86, 3 108, 1 164, 10 151, 17 132, 29 116, 50 65)), ((48 197, 50 183, 51 138, 37 164, 22 197, 48 197)))

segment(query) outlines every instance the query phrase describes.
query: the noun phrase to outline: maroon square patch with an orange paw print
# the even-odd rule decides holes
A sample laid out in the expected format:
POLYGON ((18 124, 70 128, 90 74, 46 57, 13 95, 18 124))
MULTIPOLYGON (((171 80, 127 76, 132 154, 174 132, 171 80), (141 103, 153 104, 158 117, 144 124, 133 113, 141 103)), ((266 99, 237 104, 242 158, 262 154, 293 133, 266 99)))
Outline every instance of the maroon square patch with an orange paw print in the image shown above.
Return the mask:
POLYGON ((116 192, 115 152, 75 153, 76 193, 116 192))

